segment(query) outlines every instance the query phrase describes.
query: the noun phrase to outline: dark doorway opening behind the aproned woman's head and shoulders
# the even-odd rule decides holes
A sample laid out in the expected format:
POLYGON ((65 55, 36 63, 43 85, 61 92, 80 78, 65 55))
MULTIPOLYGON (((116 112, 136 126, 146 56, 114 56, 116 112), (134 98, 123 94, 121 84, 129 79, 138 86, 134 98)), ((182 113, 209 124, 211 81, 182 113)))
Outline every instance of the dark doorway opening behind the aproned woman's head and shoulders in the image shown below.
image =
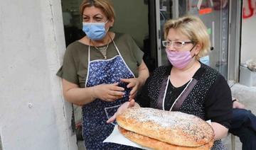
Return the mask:
MULTIPOLYGON (((82 32, 82 17, 79 5, 82 0, 62 0, 65 42, 71 42, 85 36, 82 32)), ((149 33, 149 1, 148 0, 112 0, 116 20, 112 30, 114 33, 128 33, 144 52, 144 62, 153 71, 156 68, 155 48, 150 45, 149 33), (131 11, 132 10, 132 11, 131 11), (152 52, 153 51, 153 52, 152 52)))

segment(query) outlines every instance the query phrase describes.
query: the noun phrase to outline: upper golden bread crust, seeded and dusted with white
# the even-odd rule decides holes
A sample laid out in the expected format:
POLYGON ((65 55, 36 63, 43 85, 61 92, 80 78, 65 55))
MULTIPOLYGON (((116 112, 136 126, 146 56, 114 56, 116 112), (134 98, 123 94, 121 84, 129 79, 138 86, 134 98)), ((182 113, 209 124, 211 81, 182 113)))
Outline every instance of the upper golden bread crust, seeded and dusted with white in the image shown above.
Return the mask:
POLYGON ((120 127, 161 142, 198 147, 213 141, 213 128, 201 118, 153 108, 128 108, 117 115, 120 127))

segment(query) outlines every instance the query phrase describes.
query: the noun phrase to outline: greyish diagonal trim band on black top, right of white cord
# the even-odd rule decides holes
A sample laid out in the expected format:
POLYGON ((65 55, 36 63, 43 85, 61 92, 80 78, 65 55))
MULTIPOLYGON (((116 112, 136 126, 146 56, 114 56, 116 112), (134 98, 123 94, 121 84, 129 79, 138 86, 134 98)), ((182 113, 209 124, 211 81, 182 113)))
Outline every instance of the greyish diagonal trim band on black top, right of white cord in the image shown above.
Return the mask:
POLYGON ((197 82, 198 81, 196 79, 192 79, 191 83, 188 83, 188 87, 185 88, 183 93, 181 93, 181 96, 178 97, 178 100, 176 100, 176 103, 174 103, 174 107, 171 109, 171 111, 178 111, 178 109, 181 108, 182 103, 188 97, 188 94, 191 93, 197 82))

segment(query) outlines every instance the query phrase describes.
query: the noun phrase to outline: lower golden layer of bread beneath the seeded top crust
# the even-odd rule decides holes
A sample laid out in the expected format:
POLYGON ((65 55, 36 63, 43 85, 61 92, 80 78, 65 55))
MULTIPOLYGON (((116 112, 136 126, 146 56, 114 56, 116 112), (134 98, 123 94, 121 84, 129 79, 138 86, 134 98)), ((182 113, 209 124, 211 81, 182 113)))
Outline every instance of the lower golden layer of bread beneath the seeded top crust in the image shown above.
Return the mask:
POLYGON ((176 146, 173 144, 168 144, 166 142, 161 142, 157 139, 153 139, 150 137, 146 137, 142 134, 137 134, 134 132, 130 132, 127 129, 124 129, 120 126, 118 126, 119 132, 124 135, 124 137, 127 137, 127 139, 131 140, 132 142, 135 142, 137 144, 140 144, 142 146, 151 148, 151 149, 158 149, 158 150, 208 150, 210 147, 213 146, 213 142, 209 142, 208 144, 204 144, 203 146, 198 147, 187 147, 187 146, 176 146))

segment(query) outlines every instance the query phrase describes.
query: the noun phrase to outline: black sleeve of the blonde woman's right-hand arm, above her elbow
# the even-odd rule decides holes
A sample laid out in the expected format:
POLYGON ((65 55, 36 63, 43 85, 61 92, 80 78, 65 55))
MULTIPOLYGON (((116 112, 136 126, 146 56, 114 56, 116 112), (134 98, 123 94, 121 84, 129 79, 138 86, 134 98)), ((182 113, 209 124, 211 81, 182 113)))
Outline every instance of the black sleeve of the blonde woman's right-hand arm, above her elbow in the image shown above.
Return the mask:
POLYGON ((219 75, 208 92, 205 102, 206 120, 218 122, 230 128, 232 117, 232 96, 230 87, 224 77, 219 75))

